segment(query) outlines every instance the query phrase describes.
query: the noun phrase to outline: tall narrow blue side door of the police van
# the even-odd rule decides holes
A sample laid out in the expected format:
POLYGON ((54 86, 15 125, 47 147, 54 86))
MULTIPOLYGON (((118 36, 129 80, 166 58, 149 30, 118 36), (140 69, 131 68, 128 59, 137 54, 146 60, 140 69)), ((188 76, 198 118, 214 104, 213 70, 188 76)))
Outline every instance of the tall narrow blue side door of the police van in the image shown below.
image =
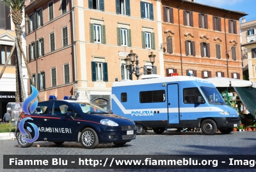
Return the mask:
POLYGON ((167 85, 167 101, 169 124, 180 123, 178 84, 167 85))

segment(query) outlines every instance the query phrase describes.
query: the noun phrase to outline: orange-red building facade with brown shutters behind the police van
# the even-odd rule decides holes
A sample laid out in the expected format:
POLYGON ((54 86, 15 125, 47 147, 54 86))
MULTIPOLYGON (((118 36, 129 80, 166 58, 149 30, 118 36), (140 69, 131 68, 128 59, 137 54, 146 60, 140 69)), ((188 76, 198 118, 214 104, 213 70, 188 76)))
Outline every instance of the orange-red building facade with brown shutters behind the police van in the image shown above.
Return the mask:
POLYGON ((165 76, 242 79, 239 18, 246 13, 193 1, 161 3, 165 76))

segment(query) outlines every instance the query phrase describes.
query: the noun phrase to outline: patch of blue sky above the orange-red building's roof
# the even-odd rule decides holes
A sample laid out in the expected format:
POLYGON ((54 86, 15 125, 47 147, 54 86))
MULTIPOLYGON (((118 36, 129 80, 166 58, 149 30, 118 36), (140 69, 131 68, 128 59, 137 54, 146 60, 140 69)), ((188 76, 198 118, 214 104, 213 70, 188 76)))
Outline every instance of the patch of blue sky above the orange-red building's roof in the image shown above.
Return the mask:
POLYGON ((226 10, 245 12, 248 14, 244 16, 246 21, 250 19, 256 19, 256 0, 195 0, 195 3, 216 6, 226 10))

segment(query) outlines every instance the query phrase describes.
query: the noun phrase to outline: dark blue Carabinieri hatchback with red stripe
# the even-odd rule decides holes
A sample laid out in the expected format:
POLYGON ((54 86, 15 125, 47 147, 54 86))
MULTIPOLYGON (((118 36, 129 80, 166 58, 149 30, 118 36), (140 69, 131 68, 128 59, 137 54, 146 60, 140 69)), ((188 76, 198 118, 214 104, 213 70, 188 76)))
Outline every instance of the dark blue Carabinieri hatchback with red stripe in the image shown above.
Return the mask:
POLYGON ((83 148, 95 148, 99 143, 114 143, 124 145, 135 139, 136 125, 132 120, 110 114, 94 104, 78 100, 50 100, 38 102, 36 110, 31 114, 21 114, 20 120, 28 118, 22 125, 27 134, 16 130, 18 144, 27 148, 33 143, 38 130, 36 141, 50 141, 60 145, 65 141, 80 142, 83 148), (36 126, 36 129, 33 126, 36 126))

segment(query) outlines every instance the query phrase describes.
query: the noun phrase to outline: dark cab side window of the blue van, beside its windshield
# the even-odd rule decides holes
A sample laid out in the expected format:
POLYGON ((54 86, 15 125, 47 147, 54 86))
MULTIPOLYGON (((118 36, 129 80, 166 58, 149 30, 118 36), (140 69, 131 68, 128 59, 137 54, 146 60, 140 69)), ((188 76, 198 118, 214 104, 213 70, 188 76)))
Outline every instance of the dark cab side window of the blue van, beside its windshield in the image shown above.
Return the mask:
MULTIPOLYGON (((184 88, 183 90, 183 102, 184 104, 195 104, 198 103, 196 102, 196 99, 198 97, 202 97, 202 94, 198 90, 198 88, 184 88)), ((205 100, 202 97, 202 102, 200 104, 204 104, 205 100)))

